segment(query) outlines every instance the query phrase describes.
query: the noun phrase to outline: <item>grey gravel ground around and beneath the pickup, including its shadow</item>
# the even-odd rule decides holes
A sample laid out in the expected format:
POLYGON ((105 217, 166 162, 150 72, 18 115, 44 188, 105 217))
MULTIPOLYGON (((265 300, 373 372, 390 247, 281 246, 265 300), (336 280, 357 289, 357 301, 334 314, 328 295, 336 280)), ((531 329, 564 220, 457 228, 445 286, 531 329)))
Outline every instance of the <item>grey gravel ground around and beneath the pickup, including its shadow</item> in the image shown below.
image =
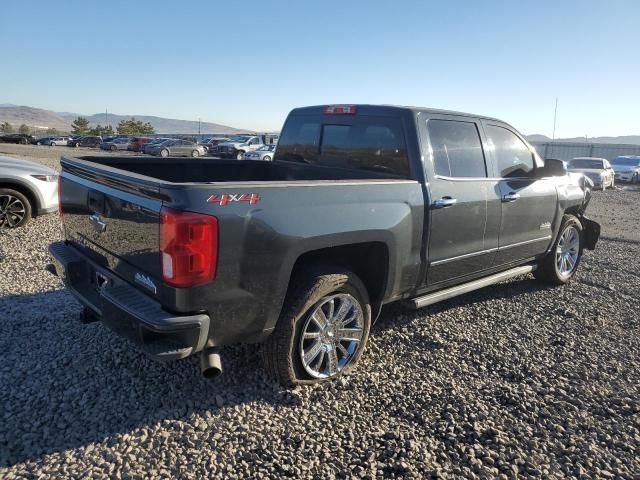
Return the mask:
POLYGON ((81 326, 37 218, 0 236, 0 478, 638 478, 638 206, 595 193, 604 239, 570 285, 389 306, 360 368, 292 391, 253 346, 205 381, 81 326))

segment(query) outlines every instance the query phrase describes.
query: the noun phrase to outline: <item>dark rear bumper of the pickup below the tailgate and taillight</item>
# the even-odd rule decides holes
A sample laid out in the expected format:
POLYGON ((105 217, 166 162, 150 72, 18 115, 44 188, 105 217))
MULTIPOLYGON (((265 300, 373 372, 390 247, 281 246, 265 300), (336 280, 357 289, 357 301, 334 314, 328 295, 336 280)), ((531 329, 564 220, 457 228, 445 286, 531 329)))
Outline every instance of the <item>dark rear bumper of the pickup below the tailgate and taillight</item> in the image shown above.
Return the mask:
POLYGON ((206 314, 173 315, 65 242, 49 246, 56 274, 67 289, 119 335, 159 361, 177 360, 205 347, 206 314), (100 283, 100 285, 99 285, 100 283))

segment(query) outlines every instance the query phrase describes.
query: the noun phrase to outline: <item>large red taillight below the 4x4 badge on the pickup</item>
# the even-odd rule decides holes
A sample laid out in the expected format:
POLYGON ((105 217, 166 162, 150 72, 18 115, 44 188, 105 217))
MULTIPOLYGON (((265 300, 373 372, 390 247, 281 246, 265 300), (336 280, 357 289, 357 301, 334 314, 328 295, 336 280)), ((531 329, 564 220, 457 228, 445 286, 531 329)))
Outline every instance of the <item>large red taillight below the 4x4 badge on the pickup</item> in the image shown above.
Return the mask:
POLYGON ((218 263, 218 220, 210 215, 160 211, 162 278, 175 287, 213 280, 218 263))

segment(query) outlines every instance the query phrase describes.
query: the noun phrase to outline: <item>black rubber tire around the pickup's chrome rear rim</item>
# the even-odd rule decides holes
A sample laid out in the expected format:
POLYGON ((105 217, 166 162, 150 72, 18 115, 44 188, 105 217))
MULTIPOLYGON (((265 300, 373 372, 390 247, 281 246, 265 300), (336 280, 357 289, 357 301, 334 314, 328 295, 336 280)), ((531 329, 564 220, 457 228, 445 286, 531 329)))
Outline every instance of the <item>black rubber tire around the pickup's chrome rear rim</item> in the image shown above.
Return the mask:
MULTIPOLYGON (((276 328, 262 347, 265 370, 285 387, 335 380, 357 365, 366 348, 371 329, 371 305, 367 289, 354 273, 337 267, 309 270, 292 279, 292 285, 297 286, 288 292, 276 328), (317 378, 305 370, 301 359, 302 329, 309 323, 312 313, 327 298, 336 294, 357 301, 359 312, 362 313, 361 337, 341 370, 328 378, 317 378)), ((322 351, 324 358, 326 350, 322 351)), ((320 362, 322 363, 322 359, 320 362)))

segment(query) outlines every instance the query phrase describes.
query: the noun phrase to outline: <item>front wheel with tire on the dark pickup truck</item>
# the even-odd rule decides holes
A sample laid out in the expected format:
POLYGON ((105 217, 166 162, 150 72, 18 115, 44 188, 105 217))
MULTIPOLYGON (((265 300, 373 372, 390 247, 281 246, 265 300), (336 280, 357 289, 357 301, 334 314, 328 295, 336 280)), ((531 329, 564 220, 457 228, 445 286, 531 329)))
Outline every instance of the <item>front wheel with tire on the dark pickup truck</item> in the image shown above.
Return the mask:
POLYGON ((533 276, 538 280, 554 285, 564 285, 569 282, 578 270, 580 260, 582 259, 582 251, 584 248, 584 235, 582 232, 582 224, 573 215, 565 215, 562 217, 562 224, 558 230, 558 236, 553 242, 553 247, 549 253, 538 263, 538 268, 533 272, 533 276), (574 245, 572 241, 572 233, 577 235, 577 243, 574 245), (564 246, 561 244, 564 243, 564 246), (571 247, 574 245, 573 247, 571 247), (563 255, 559 250, 564 250, 563 255), (573 262, 563 263, 565 261, 573 262), (560 265, 558 265, 560 263, 560 265), (566 267, 566 268, 565 268, 566 267))

